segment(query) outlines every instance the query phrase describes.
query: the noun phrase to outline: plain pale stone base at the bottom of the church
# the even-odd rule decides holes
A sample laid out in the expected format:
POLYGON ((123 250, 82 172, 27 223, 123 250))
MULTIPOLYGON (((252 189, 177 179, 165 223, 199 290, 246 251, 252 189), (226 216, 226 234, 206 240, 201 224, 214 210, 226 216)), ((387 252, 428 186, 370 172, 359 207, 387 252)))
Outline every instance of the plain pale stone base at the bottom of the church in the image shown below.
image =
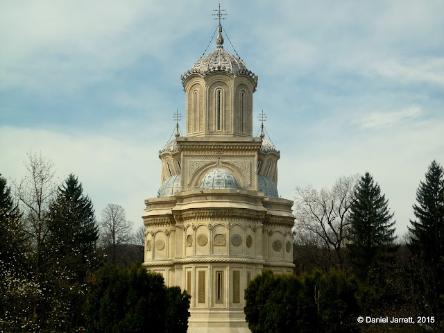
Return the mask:
POLYGON ((187 333, 251 333, 244 311, 190 311, 187 333), (211 314, 210 314, 211 312, 211 314))

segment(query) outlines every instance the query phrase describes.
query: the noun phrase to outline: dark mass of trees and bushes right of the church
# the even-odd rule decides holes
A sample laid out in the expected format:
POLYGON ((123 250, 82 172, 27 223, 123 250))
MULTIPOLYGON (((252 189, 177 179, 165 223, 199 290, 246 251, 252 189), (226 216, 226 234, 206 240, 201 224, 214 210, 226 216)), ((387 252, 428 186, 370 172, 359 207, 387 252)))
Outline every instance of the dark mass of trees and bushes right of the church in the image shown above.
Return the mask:
POLYGON ((444 332, 441 165, 433 161, 420 182, 416 219, 403 239, 370 173, 339 178, 332 189, 296 192, 296 275, 268 272, 251 282, 245 312, 253 333, 444 332), (388 323, 366 323, 367 317, 388 323), (390 323, 393 317, 415 323, 390 323))

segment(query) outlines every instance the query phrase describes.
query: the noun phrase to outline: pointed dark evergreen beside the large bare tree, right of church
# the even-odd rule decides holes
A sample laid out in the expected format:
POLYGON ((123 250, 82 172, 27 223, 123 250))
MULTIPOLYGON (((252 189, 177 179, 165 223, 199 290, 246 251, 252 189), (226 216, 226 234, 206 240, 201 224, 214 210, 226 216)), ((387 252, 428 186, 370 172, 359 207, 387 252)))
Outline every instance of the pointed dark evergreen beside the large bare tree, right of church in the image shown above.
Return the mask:
POLYGON ((381 189, 373 182, 370 173, 359 180, 355 196, 350 205, 351 239, 348 244, 350 262, 359 278, 382 262, 393 247, 395 221, 388 210, 388 200, 381 195, 381 189))

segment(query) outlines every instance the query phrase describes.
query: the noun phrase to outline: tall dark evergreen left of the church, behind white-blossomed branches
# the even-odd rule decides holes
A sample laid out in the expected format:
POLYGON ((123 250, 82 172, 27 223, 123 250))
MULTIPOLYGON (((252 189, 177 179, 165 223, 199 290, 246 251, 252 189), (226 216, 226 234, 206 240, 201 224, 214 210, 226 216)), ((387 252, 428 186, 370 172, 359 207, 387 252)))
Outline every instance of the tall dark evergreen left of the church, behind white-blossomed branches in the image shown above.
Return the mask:
POLYGON ((87 274, 96 270, 98 238, 92 202, 78 178, 69 175, 49 206, 49 234, 44 251, 46 325, 54 332, 74 332, 83 325, 87 274))

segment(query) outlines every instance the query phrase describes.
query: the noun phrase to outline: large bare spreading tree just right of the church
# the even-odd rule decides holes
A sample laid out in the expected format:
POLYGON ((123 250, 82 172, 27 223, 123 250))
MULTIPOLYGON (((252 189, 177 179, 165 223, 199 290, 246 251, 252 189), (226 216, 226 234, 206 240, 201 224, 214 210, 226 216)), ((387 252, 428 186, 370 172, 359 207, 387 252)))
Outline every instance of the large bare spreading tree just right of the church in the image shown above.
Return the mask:
MULTIPOLYGON (((321 250, 327 250, 330 266, 343 268, 343 247, 349 237, 349 214, 352 195, 358 175, 341 177, 332 189, 316 191, 311 185, 296 187, 295 210, 296 225, 293 232, 305 234, 311 246, 316 244, 321 250), (307 237, 307 232, 312 237, 307 237)), ((298 241, 296 240, 296 243, 298 241)))

